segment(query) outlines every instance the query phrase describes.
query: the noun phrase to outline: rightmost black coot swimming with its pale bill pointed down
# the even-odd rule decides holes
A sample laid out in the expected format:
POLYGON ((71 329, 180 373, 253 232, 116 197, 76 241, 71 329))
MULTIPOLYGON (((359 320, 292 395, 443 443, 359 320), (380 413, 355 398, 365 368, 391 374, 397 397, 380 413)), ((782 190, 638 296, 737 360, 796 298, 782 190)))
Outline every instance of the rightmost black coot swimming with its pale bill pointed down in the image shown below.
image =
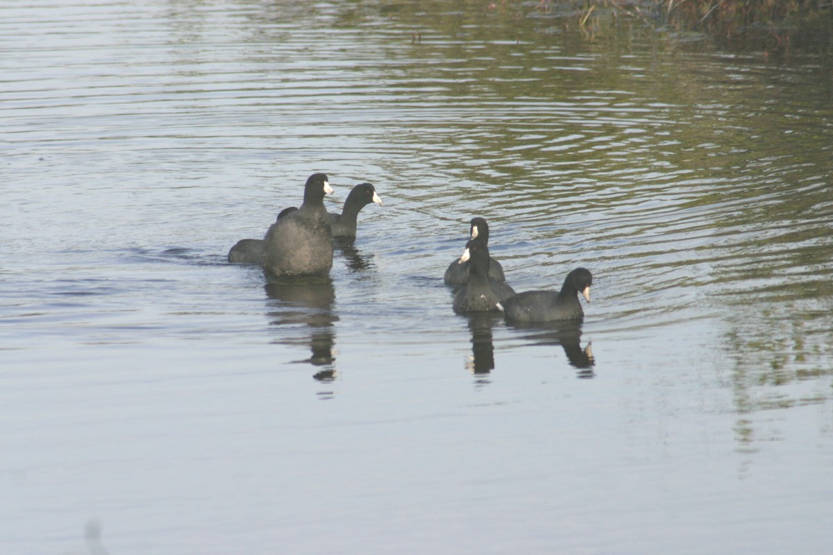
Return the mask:
POLYGON ((584 310, 578 301, 578 294, 590 302, 590 285, 593 276, 590 270, 576 268, 567 274, 561 291, 524 291, 501 301, 501 310, 506 320, 515 322, 552 322, 555 320, 581 320, 584 310))

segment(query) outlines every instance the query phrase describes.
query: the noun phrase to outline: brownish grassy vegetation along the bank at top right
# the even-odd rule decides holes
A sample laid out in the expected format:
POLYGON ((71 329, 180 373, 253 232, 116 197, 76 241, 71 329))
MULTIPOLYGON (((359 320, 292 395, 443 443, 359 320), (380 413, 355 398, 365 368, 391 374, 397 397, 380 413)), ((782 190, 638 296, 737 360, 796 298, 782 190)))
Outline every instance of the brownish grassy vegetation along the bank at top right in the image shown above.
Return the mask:
MULTIPOLYGON (((630 20, 687 41, 711 40, 730 49, 833 52, 833 0, 583 0, 572 2, 581 32, 630 20)), ((560 0, 536 9, 563 10, 560 0)))

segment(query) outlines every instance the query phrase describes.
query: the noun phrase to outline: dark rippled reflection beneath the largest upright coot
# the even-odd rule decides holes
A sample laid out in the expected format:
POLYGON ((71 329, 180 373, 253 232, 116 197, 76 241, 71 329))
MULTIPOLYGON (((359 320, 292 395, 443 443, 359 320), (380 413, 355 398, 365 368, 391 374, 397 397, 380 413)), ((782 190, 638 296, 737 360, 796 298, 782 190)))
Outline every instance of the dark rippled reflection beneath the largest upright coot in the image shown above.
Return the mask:
POLYGON ((338 316, 332 310, 336 301, 332 280, 329 277, 282 279, 268 283, 265 289, 269 299, 274 301, 268 313, 269 323, 283 328, 275 342, 309 344, 310 358, 295 362, 319 368, 313 375, 319 381, 336 379, 333 325, 338 316))

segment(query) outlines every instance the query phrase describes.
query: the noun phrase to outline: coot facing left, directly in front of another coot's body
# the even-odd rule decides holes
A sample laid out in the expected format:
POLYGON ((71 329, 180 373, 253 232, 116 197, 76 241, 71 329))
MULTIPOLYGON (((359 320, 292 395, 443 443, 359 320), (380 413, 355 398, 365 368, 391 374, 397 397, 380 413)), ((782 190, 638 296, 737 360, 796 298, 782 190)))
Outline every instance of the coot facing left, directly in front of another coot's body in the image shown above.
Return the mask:
POLYGON ((461 285, 454 296, 456 313, 500 310, 498 304, 510 299, 515 291, 506 283, 491 280, 487 275, 489 268, 489 247, 481 239, 466 243, 466 250, 460 257, 460 264, 469 263, 468 283, 461 285))

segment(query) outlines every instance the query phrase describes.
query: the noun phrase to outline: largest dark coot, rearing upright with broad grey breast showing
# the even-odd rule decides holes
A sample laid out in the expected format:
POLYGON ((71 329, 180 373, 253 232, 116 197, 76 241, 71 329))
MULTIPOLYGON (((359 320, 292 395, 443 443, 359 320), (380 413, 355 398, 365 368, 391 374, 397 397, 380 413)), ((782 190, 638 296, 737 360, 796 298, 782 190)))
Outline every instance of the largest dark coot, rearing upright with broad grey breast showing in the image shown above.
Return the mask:
POLYGON ((266 234, 263 271, 267 276, 327 275, 332 268, 332 231, 324 196, 332 193, 327 176, 313 174, 304 186, 304 202, 277 220, 266 234))

